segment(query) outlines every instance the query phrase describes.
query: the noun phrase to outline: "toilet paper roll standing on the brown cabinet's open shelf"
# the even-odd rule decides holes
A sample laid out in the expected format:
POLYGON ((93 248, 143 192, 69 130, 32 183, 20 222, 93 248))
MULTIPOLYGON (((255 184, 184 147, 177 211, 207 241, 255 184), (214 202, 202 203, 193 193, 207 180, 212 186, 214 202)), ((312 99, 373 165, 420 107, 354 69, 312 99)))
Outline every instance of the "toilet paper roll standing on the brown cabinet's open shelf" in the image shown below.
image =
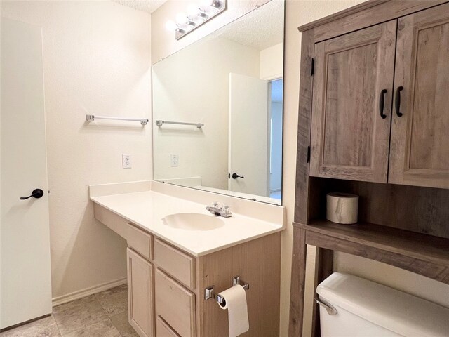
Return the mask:
POLYGON ((326 219, 333 223, 356 223, 358 195, 348 193, 328 193, 326 195, 326 219))

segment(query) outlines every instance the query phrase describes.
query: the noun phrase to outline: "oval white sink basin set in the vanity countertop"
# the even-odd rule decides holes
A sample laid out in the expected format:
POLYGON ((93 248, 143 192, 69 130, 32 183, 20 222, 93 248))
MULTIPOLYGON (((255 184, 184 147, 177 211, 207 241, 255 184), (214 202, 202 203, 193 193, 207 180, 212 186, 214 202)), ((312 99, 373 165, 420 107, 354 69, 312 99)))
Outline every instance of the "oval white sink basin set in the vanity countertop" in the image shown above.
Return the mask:
POLYGON ((215 230, 225 222, 216 216, 201 213, 175 213, 162 218, 164 225, 182 230, 215 230))

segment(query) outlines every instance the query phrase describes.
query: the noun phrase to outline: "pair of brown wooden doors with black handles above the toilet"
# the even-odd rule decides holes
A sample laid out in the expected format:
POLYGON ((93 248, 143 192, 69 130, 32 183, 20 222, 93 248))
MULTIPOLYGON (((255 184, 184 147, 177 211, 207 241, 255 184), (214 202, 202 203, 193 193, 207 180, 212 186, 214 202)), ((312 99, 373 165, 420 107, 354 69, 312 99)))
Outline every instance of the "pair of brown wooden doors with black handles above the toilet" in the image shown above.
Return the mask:
POLYGON ((448 13, 314 44, 311 176, 449 187, 448 13))

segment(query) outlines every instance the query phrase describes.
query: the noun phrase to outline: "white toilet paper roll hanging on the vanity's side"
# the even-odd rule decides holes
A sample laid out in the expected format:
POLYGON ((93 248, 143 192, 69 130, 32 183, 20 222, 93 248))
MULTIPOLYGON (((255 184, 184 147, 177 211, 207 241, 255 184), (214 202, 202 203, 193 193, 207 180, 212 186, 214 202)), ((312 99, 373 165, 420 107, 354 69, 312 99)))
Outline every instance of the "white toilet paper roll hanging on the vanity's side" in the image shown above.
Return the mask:
POLYGON ((229 337, 236 337, 250 329, 246 293, 243 286, 237 284, 219 293, 225 303, 218 303, 223 310, 227 309, 229 317, 229 337))

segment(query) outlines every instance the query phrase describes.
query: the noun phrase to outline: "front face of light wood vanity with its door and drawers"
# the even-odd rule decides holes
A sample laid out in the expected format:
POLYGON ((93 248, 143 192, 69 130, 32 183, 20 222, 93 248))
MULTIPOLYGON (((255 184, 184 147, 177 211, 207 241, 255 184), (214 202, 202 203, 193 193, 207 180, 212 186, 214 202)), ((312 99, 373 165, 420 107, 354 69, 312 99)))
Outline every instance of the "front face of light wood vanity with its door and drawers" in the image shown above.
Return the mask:
POLYGON ((131 223, 126 239, 131 326, 140 337, 195 337, 194 257, 131 223))

